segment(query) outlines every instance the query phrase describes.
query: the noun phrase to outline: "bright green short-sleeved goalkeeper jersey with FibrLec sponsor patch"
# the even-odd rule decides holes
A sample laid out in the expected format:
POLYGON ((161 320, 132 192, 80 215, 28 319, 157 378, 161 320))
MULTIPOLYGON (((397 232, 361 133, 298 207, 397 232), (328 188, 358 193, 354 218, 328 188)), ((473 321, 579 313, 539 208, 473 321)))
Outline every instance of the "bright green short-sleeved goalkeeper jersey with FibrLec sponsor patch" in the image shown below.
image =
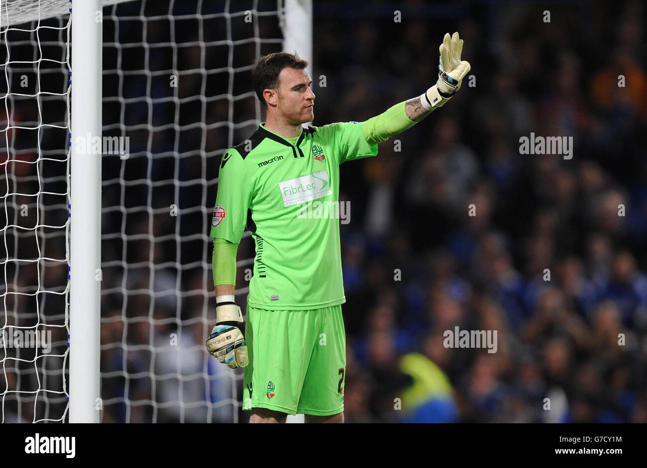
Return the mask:
POLYGON ((375 156, 377 145, 357 122, 303 128, 294 144, 263 123, 223 154, 210 235, 239 243, 245 227, 252 232, 252 307, 342 304, 339 165, 375 156))

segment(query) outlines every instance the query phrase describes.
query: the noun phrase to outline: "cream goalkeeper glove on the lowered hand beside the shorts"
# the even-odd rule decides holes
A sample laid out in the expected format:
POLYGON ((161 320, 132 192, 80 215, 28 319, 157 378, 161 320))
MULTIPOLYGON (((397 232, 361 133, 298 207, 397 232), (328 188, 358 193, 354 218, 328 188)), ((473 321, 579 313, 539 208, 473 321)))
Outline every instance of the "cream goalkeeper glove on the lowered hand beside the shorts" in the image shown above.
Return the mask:
POLYGON ((221 302, 215 307, 216 323, 206 340, 206 350, 232 369, 245 367, 249 360, 245 336, 238 326, 243 323, 241 308, 234 302, 221 302))

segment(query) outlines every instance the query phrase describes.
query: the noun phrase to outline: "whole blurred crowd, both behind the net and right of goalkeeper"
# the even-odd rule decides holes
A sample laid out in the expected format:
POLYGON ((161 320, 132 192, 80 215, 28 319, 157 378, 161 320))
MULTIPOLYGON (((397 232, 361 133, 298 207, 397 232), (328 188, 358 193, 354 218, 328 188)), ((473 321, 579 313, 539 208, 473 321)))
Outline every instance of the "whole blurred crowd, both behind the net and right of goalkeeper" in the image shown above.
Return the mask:
MULTIPOLYGON (((245 40, 281 37, 276 16, 244 21, 252 4, 276 8, 104 10, 104 136, 131 139, 103 162, 104 422, 248 418, 241 372, 204 338, 217 168, 263 119, 251 64, 281 50, 245 40)), ((313 125, 420 96, 445 32, 472 65, 442 109, 340 168, 346 421, 647 422, 644 4, 317 1, 313 17, 313 125), (572 137, 573 158, 521 154, 531 132, 572 137), (446 347, 455 327, 497 331, 497 351, 446 347)), ((244 310, 249 236, 238 255, 244 310)))

